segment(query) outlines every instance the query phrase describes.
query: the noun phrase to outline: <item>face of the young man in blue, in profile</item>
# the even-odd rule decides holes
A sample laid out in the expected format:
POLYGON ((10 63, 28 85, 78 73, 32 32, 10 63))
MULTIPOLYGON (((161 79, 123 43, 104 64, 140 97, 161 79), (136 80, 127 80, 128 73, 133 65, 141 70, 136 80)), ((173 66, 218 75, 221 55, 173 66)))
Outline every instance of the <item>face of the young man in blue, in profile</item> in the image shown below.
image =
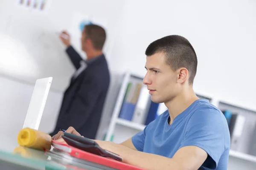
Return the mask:
POLYGON ((156 53, 148 56, 145 68, 147 73, 143 83, 150 90, 153 102, 169 102, 179 93, 180 85, 177 82, 179 74, 177 71, 172 71, 171 66, 166 64, 165 54, 156 53))

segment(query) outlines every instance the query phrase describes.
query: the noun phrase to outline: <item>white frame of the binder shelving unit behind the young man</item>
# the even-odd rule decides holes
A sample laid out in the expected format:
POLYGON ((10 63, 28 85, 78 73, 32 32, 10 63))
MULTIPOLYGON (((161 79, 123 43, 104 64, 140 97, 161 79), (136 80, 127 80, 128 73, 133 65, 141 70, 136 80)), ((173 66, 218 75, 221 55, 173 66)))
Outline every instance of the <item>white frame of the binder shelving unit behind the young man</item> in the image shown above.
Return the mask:
MULTIPOLYGON (((139 132, 142 131, 146 126, 145 125, 141 125, 138 123, 134 123, 125 119, 120 119, 119 116, 119 112, 121 110, 122 107, 122 102, 123 99, 125 97, 125 91, 127 88, 127 84, 129 82, 130 79, 138 79, 142 81, 142 77, 138 77, 138 76, 134 76, 130 73, 126 73, 125 76, 122 79, 122 84, 121 84, 121 88, 119 91, 119 95, 117 97, 116 100, 116 105, 113 111, 113 115, 111 117, 111 123, 109 125, 108 128, 108 132, 106 134, 106 140, 109 141, 111 139, 111 136, 114 134, 115 130, 116 130, 116 125, 125 127, 126 129, 131 129, 134 130, 134 135, 139 132)), ((208 99, 209 102, 211 102, 213 105, 215 105, 216 107, 218 107, 220 110, 221 109, 229 109, 231 111, 235 111, 235 112, 241 112, 243 115, 248 116, 248 120, 246 122, 247 126, 246 128, 253 128, 255 123, 256 123, 256 111, 253 108, 247 108, 247 107, 243 107, 241 105, 238 104, 234 104, 231 101, 226 101, 223 99, 218 99, 216 97, 211 97, 211 95, 209 94, 205 94, 202 92, 198 92, 196 91, 196 94, 199 98, 201 99, 208 99)), ((122 132, 125 133, 125 132, 122 132)), ((131 133, 130 133, 131 135, 131 133)), ((248 142, 250 142, 250 136, 252 135, 252 130, 248 130, 248 134, 245 134, 244 136, 244 140, 242 140, 242 142, 247 143, 244 144, 244 146, 248 146, 248 142)), ((126 139, 130 138, 131 136, 127 136, 126 139)), ((124 139, 125 140, 125 139, 124 139)), ((238 159, 242 159, 245 161, 250 161, 250 162, 254 162, 256 163, 256 156, 253 156, 251 154, 248 154, 246 152, 242 152, 241 150, 246 150, 246 152, 249 151, 249 147, 241 147, 240 150, 230 150, 230 157, 234 157, 234 158, 238 158, 238 159)), ((255 151, 256 152, 256 151, 255 151)))

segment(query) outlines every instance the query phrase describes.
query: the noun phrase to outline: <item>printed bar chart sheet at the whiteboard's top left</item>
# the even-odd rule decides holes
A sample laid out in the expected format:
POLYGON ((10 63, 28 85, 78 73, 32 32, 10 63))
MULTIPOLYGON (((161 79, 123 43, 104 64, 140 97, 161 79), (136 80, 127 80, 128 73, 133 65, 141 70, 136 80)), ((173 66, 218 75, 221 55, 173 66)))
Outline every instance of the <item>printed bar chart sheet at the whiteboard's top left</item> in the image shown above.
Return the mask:
POLYGON ((17 6, 24 10, 47 14, 52 0, 17 0, 17 6))

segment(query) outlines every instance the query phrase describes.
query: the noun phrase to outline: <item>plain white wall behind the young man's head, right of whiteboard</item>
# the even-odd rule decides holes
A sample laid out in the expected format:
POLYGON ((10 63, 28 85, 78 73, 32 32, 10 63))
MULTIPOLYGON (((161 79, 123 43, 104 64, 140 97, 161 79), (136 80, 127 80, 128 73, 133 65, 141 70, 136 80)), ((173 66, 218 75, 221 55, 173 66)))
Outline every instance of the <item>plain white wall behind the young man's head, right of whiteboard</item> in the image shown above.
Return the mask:
MULTIPOLYGON (((256 110, 255 16, 252 0, 127 0, 110 66, 115 74, 144 76, 149 43, 179 34, 198 55, 195 91, 256 110)), ((253 170, 253 165, 230 158, 229 170, 253 170)))

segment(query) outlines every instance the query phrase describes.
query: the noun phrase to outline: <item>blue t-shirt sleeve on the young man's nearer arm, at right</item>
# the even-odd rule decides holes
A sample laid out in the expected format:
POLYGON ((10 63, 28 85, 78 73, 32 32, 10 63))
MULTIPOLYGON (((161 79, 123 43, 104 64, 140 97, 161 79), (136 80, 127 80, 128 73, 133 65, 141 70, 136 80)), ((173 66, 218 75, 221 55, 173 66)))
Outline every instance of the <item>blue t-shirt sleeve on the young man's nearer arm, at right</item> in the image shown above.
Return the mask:
POLYGON ((203 166, 215 169, 225 150, 225 128, 220 111, 209 106, 199 108, 189 119, 181 147, 202 148, 208 154, 203 166))

